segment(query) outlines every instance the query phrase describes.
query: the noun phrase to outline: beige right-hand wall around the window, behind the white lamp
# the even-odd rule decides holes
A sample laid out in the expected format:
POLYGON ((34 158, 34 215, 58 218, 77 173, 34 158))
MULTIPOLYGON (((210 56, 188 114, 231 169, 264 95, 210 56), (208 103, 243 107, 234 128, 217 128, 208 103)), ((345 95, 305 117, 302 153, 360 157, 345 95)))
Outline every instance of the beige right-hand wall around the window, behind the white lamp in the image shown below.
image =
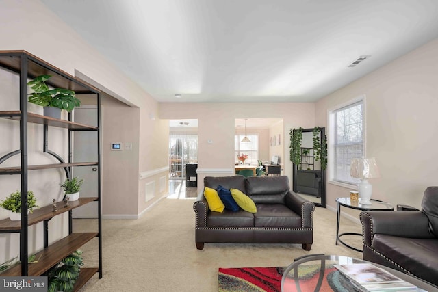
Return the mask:
MULTIPOLYGON (((316 122, 326 125, 328 110, 365 94, 365 153, 381 171, 370 180, 373 198, 394 206, 420 207, 424 189, 438 183, 437 51, 433 40, 316 103, 316 122)), ((327 204, 349 191, 328 183, 327 204)))

